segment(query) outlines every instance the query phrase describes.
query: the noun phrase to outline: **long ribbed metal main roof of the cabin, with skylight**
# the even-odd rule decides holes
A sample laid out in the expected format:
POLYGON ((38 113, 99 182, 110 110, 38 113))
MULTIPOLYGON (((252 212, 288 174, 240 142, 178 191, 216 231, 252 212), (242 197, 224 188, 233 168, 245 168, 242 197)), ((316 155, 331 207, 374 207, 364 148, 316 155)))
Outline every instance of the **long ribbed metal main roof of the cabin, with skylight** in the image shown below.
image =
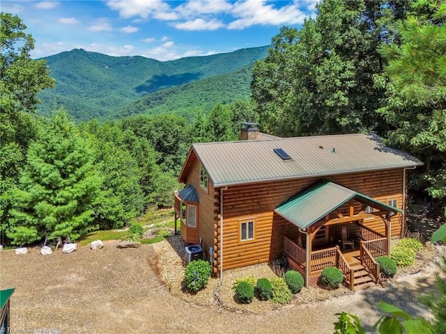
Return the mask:
MULTIPOLYGON (((410 154, 388 148, 378 136, 367 134, 198 143, 191 150, 216 187, 422 165, 410 154), (275 148, 282 148, 291 161, 280 159, 275 148)), ((187 168, 180 180, 184 180, 183 173, 187 168)))

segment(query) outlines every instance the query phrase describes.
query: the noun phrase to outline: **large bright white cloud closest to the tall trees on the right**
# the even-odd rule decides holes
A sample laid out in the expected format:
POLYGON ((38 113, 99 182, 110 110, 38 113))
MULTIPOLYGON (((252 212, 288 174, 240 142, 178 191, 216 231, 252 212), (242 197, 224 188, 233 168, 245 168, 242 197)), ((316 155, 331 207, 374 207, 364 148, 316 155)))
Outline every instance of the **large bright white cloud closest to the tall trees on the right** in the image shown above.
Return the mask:
POLYGON ((232 10, 234 17, 239 17, 228 25, 228 29, 244 29, 254 24, 302 24, 309 16, 300 10, 302 2, 296 2, 281 8, 266 4, 265 0, 246 0, 235 3, 232 10))

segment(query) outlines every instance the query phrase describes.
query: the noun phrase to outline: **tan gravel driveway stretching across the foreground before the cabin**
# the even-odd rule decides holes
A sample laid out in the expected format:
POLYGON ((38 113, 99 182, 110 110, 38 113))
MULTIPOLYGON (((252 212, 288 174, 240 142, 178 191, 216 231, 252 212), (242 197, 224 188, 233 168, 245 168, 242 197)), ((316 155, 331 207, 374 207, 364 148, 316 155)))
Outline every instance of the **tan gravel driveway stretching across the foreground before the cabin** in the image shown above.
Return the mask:
MULTIPOLYGON (((416 296, 433 285, 433 265, 401 276, 387 289, 365 289, 327 301, 298 303, 260 313, 197 305, 159 279, 151 245, 72 254, 0 253, 0 288, 16 287, 11 327, 28 333, 332 333, 336 312, 354 312, 370 328, 385 300, 411 315, 428 316, 416 296), (42 329, 47 331, 43 332, 42 329), (52 329, 52 331, 49 331, 52 329), (40 330, 40 331, 39 331, 40 330)), ((226 277, 226 276, 225 276, 226 277)), ((231 285, 232 282, 224 285, 231 285)), ((16 332, 20 333, 20 332, 16 332)))

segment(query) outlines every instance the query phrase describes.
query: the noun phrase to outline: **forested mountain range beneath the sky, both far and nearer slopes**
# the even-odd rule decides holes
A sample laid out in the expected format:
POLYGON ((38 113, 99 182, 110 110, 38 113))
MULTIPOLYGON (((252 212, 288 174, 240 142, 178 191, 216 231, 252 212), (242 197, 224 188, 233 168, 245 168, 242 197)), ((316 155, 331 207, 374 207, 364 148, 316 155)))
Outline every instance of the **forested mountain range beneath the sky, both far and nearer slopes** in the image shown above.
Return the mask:
POLYGON ((63 106, 77 121, 141 113, 208 111, 217 103, 247 99, 254 61, 269 46, 226 54, 156 61, 74 49, 46 57, 55 89, 40 93, 39 113, 63 106))

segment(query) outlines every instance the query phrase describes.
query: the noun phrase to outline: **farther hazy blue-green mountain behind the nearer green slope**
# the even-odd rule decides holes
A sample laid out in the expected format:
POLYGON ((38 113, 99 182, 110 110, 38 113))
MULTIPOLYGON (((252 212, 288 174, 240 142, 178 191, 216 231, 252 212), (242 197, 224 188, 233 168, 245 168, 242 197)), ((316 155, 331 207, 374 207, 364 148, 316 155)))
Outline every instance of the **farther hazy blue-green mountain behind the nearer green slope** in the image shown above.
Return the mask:
POLYGON ((56 88, 40 93, 39 113, 45 116, 52 109, 64 106, 77 121, 114 118, 114 113, 147 95, 252 65, 266 56, 268 48, 268 45, 252 47, 173 61, 144 56, 114 57, 84 49, 63 51, 43 58, 56 88))

